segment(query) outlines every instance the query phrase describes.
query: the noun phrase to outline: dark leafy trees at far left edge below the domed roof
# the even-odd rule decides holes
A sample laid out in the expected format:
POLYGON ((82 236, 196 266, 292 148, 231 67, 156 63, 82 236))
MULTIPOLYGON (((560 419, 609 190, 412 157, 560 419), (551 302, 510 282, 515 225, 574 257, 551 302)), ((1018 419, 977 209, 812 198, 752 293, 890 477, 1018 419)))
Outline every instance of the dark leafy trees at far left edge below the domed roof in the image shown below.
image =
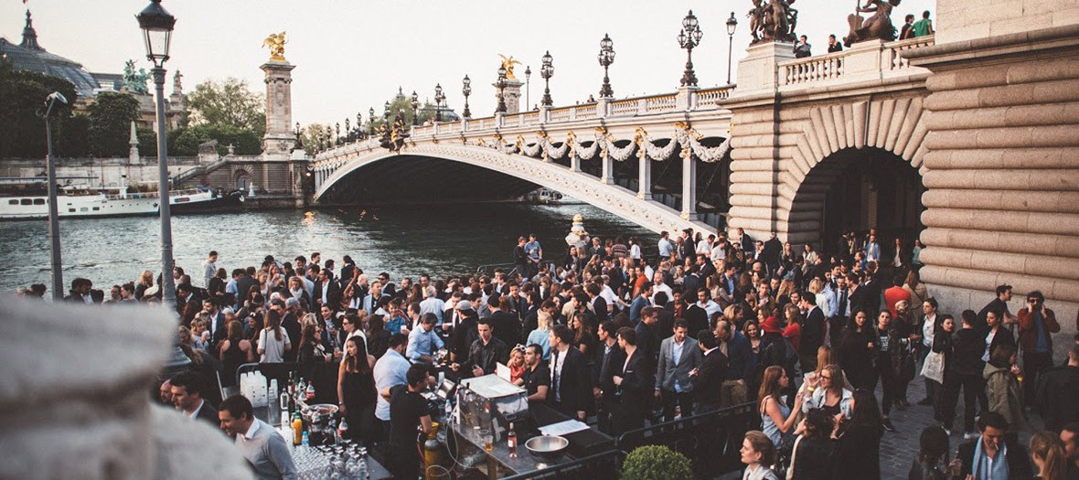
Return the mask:
MULTIPOLYGON (((57 104, 53 110, 54 148, 65 140, 65 122, 71 116, 71 106, 78 99, 70 82, 41 73, 15 71, 10 61, 0 60, 0 159, 43 159, 45 146, 44 100, 59 92, 68 105, 57 104)), ((59 149, 56 150, 60 154, 59 149)))

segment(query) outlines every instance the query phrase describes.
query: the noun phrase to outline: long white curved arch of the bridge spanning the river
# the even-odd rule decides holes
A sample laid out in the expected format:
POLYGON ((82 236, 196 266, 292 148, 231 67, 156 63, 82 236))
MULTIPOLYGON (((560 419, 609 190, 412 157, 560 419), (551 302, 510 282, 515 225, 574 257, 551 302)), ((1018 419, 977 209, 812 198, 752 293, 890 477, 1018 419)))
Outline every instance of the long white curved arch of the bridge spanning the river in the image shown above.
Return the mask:
POLYGON ((562 192, 655 232, 664 230, 675 232, 686 228, 712 230, 711 227, 702 222, 684 220, 679 211, 658 202, 642 201, 638 198, 636 192, 615 184, 603 183, 596 177, 573 172, 554 162, 544 162, 517 153, 505 153, 489 147, 448 142, 409 146, 401 153, 386 150, 356 153, 322 181, 315 193, 315 201, 328 196, 334 189, 340 188, 343 183, 342 180, 350 175, 378 162, 392 162, 395 161, 395 157, 399 159, 406 155, 459 162, 516 177, 562 192))

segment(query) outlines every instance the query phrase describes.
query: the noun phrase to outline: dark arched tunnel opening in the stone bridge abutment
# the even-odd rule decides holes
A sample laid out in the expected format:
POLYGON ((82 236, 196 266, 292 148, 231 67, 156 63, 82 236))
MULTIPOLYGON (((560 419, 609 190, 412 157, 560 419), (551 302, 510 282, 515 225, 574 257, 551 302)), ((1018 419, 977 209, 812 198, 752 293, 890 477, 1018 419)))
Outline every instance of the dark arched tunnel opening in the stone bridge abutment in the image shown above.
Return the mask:
POLYGON ((798 188, 791 208, 792 230, 820 251, 836 253, 844 233, 864 237, 877 230, 882 258, 890 263, 894 242, 909 253, 921 223, 921 194, 926 191, 917 168, 882 149, 845 149, 817 164, 798 188))

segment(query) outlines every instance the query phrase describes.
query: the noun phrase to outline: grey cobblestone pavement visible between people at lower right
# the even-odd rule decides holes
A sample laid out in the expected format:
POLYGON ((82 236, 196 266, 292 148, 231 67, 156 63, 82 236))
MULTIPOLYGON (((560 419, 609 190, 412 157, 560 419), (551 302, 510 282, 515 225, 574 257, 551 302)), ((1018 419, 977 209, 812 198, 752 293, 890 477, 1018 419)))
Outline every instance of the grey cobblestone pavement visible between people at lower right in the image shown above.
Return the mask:
MULTIPOLYGON (((877 386, 877 399, 882 396, 880 387, 877 386)), ((911 471, 911 464, 918 454, 918 437, 921 429, 933 425, 933 408, 916 404, 918 400, 926 397, 925 381, 921 376, 911 381, 906 393, 906 398, 911 407, 905 411, 891 410, 891 423, 896 426, 896 433, 885 431, 880 439, 880 478, 882 480, 905 479, 911 471)), ((1041 427, 1041 420, 1035 414, 1029 414, 1030 424, 1041 427)), ((1026 444, 1030 439, 1029 431, 1020 434, 1020 442, 1026 444)), ((962 439, 962 400, 956 409, 956 421, 950 439, 952 456, 962 439)))

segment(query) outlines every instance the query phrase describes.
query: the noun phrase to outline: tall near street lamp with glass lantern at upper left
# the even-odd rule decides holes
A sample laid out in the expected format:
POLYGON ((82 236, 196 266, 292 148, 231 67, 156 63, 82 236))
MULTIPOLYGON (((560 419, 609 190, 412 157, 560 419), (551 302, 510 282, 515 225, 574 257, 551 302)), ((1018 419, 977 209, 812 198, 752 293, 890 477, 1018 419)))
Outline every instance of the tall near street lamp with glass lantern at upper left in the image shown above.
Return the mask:
POLYGON ((161 282, 162 304, 176 307, 176 283, 173 280, 173 220, 168 205, 168 141, 165 136, 165 61, 172 42, 176 17, 163 6, 161 0, 150 4, 138 15, 139 28, 146 42, 146 57, 153 63, 153 83, 158 94, 158 210, 161 214, 161 282))

